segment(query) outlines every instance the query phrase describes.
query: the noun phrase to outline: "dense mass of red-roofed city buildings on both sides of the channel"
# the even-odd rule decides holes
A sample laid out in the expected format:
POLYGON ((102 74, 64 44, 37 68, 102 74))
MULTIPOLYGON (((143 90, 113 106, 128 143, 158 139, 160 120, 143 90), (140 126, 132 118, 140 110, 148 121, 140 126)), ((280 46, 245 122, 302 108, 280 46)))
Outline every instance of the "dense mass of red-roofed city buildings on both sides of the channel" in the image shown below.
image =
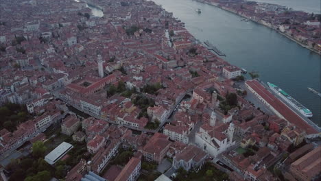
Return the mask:
MULTIPOLYGON (((232 179, 275 180, 268 167, 289 147, 318 137, 296 117, 254 108, 235 89, 233 79, 241 69, 206 49, 154 2, 90 3, 104 16, 94 16, 83 1, 1 4, 0 104, 25 104, 34 116, 14 132, 0 130, 1 155, 61 121, 61 133, 85 141, 91 154, 69 170, 67 181, 104 179, 98 175, 120 149, 132 149, 134 156, 113 180, 136 180, 143 161, 160 164, 166 157, 174 169, 197 170, 211 157, 233 169, 232 179), (90 117, 79 117, 67 106, 90 117)), ((241 4, 220 5, 232 10, 241 4)), ((269 12, 261 6, 250 3, 241 10, 269 12)), ((310 33, 320 30, 304 35, 310 33)), ((309 41, 320 43, 311 36, 309 41)), ((314 178, 306 160, 317 157, 313 165, 320 165, 315 152, 294 160, 286 173, 314 178)), ((59 159, 49 155, 47 161, 59 159)))

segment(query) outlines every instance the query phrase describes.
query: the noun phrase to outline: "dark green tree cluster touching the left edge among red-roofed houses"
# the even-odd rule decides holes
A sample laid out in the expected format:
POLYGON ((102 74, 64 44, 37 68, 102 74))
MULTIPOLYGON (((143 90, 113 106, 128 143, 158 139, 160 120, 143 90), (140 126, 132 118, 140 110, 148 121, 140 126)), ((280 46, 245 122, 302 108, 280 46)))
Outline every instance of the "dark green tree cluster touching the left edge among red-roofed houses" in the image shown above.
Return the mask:
POLYGON ((19 104, 5 104, 0 107, 0 130, 2 128, 7 129, 10 132, 16 130, 16 126, 20 123, 32 118, 27 113, 27 107, 19 104))

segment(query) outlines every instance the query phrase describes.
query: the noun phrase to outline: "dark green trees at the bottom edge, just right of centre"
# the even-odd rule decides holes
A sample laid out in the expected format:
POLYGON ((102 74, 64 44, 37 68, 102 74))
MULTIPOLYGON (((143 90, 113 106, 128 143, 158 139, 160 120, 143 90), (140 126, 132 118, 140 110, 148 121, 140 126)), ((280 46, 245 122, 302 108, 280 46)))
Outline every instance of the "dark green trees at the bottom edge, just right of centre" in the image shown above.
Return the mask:
POLYGON ((215 166, 211 162, 206 162, 202 169, 198 172, 196 171, 185 171, 185 169, 178 169, 178 174, 174 181, 181 180, 200 180, 200 181, 210 181, 210 180, 228 180, 228 175, 223 171, 219 171, 219 169, 215 168, 215 166))

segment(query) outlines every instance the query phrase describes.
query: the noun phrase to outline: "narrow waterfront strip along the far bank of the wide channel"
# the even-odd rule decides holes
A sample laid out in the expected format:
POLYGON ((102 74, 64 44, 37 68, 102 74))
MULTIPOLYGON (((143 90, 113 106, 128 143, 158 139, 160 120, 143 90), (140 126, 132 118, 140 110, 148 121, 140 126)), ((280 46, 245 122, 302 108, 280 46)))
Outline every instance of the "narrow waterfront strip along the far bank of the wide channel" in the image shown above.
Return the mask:
POLYGON ((296 40, 296 38, 293 38, 293 37, 291 37, 291 36, 288 36, 287 34, 279 31, 278 29, 275 29, 275 28, 270 27, 270 26, 268 26, 268 25, 264 25, 263 23, 261 23, 261 22, 259 22, 259 21, 255 21, 255 20, 252 19, 251 17, 243 16, 242 14, 239 14, 239 13, 237 13, 237 12, 233 12, 233 11, 231 11, 231 10, 228 10, 228 9, 226 9, 226 8, 223 8, 223 7, 220 6, 220 5, 217 5, 216 3, 210 3, 210 2, 202 1, 202 0, 194 0, 194 1, 198 1, 198 2, 200 2, 200 3, 206 3, 206 4, 208 4, 208 5, 213 5, 213 6, 219 8, 219 9, 221 9, 221 10, 226 10, 227 12, 231 12, 231 13, 236 14, 236 15, 238 15, 238 16, 241 16, 241 17, 243 17, 243 18, 249 19, 250 21, 252 21, 252 22, 254 22, 254 23, 259 23, 260 25, 263 25, 263 26, 265 26, 265 27, 269 27, 270 29, 274 29, 274 30, 275 30, 276 32, 278 32, 279 34, 281 34, 281 35, 289 38, 290 40, 294 41, 295 43, 298 43, 298 45, 301 45, 301 47, 304 47, 304 48, 306 48, 306 49, 309 49, 310 51, 313 51, 314 53, 317 53, 319 56, 321 56, 321 51, 317 51, 316 49, 312 49, 312 48, 310 48, 309 46, 301 43, 299 40, 296 40))

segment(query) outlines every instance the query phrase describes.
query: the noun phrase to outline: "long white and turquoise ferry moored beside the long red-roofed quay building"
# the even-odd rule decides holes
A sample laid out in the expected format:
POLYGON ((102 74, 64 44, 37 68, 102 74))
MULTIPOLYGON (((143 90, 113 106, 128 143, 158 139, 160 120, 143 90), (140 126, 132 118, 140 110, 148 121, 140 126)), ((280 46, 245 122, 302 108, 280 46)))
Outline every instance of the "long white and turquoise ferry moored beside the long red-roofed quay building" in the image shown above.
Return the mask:
POLYGON ((282 90, 281 88, 279 88, 278 86, 276 86, 274 84, 271 84, 270 82, 268 82, 268 86, 271 88, 271 90, 274 91, 274 93, 279 95, 283 100, 287 101, 287 103, 289 103, 289 105, 291 105, 293 108, 298 110, 305 117, 312 117, 313 116, 311 110, 305 108, 305 106, 303 106, 298 101, 296 101, 296 99, 294 99, 293 97, 291 97, 290 95, 285 93, 284 90, 282 90))

